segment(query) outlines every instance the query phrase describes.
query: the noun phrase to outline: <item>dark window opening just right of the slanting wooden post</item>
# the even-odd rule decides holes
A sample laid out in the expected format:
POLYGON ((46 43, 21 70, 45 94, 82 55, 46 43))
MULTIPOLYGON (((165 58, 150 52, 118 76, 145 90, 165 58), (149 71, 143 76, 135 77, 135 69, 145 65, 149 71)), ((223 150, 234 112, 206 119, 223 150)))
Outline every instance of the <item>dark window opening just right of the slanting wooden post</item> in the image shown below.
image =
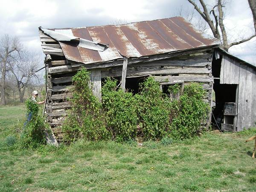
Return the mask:
POLYGON ((126 77, 125 89, 128 90, 128 92, 133 93, 134 95, 136 93, 139 93, 140 83, 144 82, 148 76, 126 77))

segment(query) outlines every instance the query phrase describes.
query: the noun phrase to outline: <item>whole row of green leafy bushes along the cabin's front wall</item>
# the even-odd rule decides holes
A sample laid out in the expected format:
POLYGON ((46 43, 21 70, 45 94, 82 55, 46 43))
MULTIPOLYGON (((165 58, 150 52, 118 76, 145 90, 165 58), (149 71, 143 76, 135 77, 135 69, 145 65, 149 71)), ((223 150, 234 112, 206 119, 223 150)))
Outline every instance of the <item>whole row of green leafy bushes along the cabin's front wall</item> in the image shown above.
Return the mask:
POLYGON ((209 106, 203 101, 205 90, 200 84, 169 86, 169 94, 160 90, 159 82, 148 77, 133 95, 107 78, 102 86, 102 103, 93 96, 90 73, 80 70, 73 76, 72 109, 64 123, 64 140, 182 140, 196 136, 209 106), (177 97, 177 95, 179 95, 177 97))

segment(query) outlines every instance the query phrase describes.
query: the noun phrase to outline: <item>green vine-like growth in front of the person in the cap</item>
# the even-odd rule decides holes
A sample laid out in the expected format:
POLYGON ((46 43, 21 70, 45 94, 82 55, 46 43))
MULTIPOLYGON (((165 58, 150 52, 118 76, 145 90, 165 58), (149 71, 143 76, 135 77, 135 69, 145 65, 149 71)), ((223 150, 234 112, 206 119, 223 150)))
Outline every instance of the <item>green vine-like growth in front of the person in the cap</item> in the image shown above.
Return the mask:
POLYGON ((46 143, 44 131, 47 130, 47 125, 44 118, 38 114, 39 105, 36 102, 27 99, 25 105, 26 116, 31 116, 31 120, 24 124, 20 134, 19 146, 20 148, 37 148, 46 143))

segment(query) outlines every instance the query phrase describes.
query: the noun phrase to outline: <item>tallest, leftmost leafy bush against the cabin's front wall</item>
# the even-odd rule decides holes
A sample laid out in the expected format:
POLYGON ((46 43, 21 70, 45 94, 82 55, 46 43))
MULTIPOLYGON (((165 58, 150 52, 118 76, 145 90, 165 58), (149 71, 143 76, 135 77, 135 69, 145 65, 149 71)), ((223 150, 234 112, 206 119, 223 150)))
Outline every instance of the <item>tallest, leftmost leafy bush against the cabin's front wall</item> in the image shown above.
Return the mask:
POLYGON ((105 126, 102 104, 89 86, 90 73, 83 68, 73 76, 72 81, 72 108, 62 128, 64 141, 73 142, 81 137, 88 140, 108 139, 109 132, 105 126))

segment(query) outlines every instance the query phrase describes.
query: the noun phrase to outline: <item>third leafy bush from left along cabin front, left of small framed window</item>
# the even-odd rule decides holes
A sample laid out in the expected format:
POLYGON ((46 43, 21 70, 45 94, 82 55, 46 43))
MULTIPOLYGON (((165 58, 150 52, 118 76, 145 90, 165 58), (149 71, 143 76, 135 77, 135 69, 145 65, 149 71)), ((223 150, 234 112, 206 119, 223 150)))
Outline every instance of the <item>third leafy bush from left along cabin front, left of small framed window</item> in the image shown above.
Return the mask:
POLYGON ((162 138, 169 128, 169 102, 163 99, 163 92, 159 87, 159 82, 149 77, 140 83, 140 94, 135 95, 141 123, 139 134, 144 140, 162 138))

